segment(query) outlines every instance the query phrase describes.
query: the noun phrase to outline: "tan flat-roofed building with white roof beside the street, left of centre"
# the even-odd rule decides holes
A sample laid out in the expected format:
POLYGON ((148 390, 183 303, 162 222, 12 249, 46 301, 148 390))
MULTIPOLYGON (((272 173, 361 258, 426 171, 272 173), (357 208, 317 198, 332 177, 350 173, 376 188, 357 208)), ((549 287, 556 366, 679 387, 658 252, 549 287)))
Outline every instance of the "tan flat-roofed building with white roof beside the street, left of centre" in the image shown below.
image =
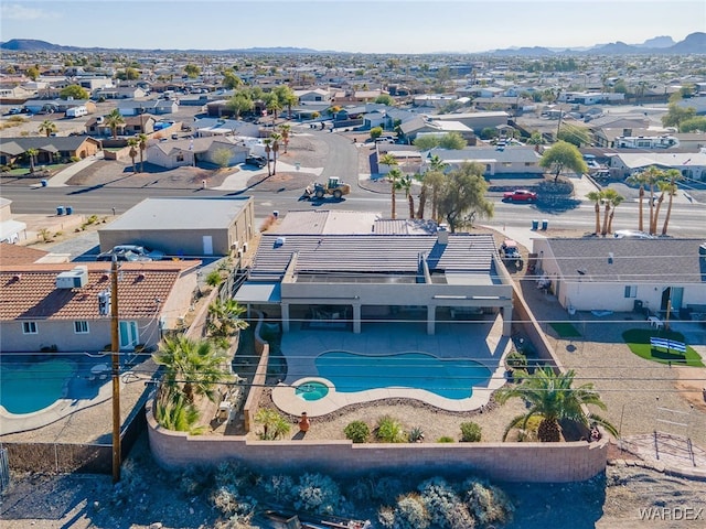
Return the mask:
POLYGON ((101 250, 141 245, 169 256, 213 257, 247 249, 255 234, 250 197, 146 198, 98 229, 101 250))

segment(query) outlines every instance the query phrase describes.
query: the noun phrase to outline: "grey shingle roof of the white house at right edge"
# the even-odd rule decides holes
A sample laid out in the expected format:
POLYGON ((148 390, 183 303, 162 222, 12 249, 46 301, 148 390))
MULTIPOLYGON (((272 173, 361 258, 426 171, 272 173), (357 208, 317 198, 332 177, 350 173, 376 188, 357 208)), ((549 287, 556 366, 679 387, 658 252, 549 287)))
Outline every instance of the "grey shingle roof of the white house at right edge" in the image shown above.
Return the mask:
POLYGON ((704 283, 706 239, 546 239, 561 274, 593 281, 704 283), (612 253, 612 262, 609 255, 612 253))

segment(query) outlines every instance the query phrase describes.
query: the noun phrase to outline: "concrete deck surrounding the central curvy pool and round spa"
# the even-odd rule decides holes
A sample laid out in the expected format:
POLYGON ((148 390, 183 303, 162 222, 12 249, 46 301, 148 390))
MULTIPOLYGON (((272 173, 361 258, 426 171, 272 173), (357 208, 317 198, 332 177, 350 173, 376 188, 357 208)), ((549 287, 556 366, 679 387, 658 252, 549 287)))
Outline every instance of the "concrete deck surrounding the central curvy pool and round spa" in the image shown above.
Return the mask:
MULTIPOLYGON (((490 316, 486 316, 490 317, 490 316)), ((502 317, 495 320, 441 323, 437 334, 426 334, 424 322, 368 323, 361 334, 350 331, 292 331, 282 337, 281 350, 287 359, 287 378, 272 389, 272 401, 286 413, 321 417, 342 407, 372 400, 407 398, 427 402, 448 411, 471 411, 485 406, 492 392, 505 384, 502 363, 511 349, 509 337, 502 336, 502 317), (411 388, 377 388, 357 392, 338 392, 317 376, 315 358, 328 350, 345 350, 360 355, 427 353, 438 358, 475 360, 491 371, 486 387, 474 387, 468 399, 447 399, 429 391, 411 388), (329 393, 319 400, 304 400, 295 395, 295 385, 321 381, 329 393)))

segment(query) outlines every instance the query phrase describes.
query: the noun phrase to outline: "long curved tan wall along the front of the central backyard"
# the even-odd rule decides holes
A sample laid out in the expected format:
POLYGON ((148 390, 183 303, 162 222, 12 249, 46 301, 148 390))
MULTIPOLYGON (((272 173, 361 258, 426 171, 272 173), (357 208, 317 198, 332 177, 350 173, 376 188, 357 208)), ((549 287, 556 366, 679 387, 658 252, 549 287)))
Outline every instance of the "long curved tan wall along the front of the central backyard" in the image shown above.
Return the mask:
POLYGON ((480 474, 506 482, 565 483, 606 469, 608 439, 598 443, 353 444, 350 441, 250 441, 244 436, 188 435, 157 424, 147 410, 150 447, 165 468, 242 461, 266 473, 307 468, 335 475, 368 472, 480 474))

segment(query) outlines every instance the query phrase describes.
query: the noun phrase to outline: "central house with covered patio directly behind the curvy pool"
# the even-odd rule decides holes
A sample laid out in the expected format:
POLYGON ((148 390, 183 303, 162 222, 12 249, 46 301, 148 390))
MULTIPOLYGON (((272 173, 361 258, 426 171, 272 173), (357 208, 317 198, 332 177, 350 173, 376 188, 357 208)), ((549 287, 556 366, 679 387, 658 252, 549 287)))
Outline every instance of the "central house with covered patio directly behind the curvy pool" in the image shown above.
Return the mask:
POLYGON ((502 314, 510 336, 512 280, 492 235, 398 235, 410 223, 381 219, 366 234, 335 234, 306 233, 304 220, 293 233, 265 233, 235 299, 280 320, 285 332, 301 325, 359 334, 404 319, 435 334, 438 322, 502 314))

